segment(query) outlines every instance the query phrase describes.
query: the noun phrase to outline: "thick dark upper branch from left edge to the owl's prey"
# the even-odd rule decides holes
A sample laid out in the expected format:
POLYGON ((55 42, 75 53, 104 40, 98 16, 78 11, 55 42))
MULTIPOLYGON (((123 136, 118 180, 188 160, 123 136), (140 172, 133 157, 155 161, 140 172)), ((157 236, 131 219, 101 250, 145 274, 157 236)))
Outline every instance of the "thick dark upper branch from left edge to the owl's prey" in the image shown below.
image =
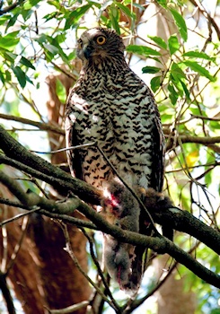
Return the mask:
POLYGON ((11 158, 8 159, 1 155, 0 162, 42 179, 60 191, 74 191, 85 201, 99 204, 101 194, 97 189, 79 179, 72 178, 65 171, 30 153, 22 144, 14 140, 2 126, 0 126, 0 148, 11 158))

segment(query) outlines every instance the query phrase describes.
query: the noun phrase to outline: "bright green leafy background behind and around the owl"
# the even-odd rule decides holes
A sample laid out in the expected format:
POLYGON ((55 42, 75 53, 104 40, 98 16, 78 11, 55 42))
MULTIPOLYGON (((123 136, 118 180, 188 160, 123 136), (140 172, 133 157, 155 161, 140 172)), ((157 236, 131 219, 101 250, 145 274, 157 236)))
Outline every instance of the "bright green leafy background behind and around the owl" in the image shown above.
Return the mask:
MULTIPOLYGON (((76 39, 97 24, 113 28, 124 37, 128 62, 151 86, 161 112, 167 138, 164 190, 175 205, 218 231, 219 12, 218 2, 209 5, 198 0, 4 1, 0 11, 1 124, 32 151, 64 147, 63 104, 80 67, 75 59, 76 39), (69 80, 67 84, 59 74, 69 80), (55 120, 57 103, 51 94, 57 94, 60 103, 55 120), (51 126, 56 136, 51 135, 51 126)), ((45 158, 50 159, 49 155, 45 158)), ((21 172, 15 174, 23 188, 40 193, 41 182, 37 185, 21 172)), ((10 225, 7 228, 10 233, 10 225)), ((175 241, 182 249, 198 244, 182 234, 175 241)), ((195 255, 219 273, 219 259, 210 249, 198 245, 195 255)), ((179 266, 176 276, 184 275, 184 289, 197 292, 197 313, 214 313, 219 292, 179 266)), ((146 279, 144 284, 153 283, 146 279)))

